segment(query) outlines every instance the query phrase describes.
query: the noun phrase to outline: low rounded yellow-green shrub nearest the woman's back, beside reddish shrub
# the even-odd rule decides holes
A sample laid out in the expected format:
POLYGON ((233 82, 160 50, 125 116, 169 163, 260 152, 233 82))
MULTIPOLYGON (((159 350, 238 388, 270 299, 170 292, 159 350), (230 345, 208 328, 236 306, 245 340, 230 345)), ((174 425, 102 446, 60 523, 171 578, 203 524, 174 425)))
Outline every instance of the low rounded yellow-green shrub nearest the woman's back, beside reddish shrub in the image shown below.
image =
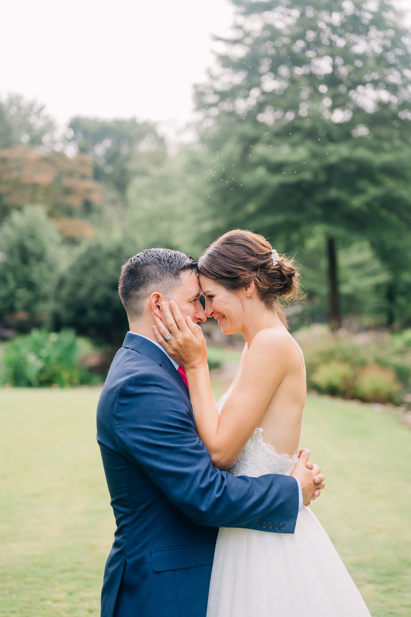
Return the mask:
POLYGON ((311 383, 322 394, 351 398, 355 384, 355 369, 347 362, 336 360, 318 366, 311 383))

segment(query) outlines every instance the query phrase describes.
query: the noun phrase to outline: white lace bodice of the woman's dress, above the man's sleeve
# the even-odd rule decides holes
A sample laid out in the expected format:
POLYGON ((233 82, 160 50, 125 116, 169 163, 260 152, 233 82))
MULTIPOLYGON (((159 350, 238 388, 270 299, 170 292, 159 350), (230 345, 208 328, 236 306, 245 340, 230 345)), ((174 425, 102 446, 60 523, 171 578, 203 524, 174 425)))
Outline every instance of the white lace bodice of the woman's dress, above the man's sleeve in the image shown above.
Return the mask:
MULTIPOLYGON (((231 388, 229 388, 217 403, 218 412, 221 412, 231 388)), ((233 476, 264 476, 267 473, 279 473, 289 476, 298 460, 297 454, 289 457, 288 454, 280 454, 275 447, 267 444, 262 438, 263 429, 257 427, 244 446, 238 460, 227 471, 233 476)))

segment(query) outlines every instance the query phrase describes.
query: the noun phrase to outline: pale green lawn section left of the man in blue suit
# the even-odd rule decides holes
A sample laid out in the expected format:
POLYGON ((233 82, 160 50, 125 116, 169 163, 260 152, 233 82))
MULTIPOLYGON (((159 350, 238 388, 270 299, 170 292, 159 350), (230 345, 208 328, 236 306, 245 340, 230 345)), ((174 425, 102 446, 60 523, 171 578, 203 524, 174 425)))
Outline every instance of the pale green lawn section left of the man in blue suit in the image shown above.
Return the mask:
POLYGON ((98 395, 0 391, 1 617, 99 615, 114 519, 96 443, 98 395))

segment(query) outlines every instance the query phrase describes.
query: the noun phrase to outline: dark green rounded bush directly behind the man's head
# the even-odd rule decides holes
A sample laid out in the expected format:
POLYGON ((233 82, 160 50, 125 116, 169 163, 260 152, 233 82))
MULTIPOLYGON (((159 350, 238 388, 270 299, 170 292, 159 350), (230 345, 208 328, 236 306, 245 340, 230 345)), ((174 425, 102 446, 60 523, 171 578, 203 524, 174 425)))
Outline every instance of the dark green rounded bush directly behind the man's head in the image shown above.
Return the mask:
POLYGON ((127 239, 93 238, 81 245, 57 284, 54 328, 75 328, 96 341, 121 344, 128 322, 118 278, 125 260, 139 250, 127 239))

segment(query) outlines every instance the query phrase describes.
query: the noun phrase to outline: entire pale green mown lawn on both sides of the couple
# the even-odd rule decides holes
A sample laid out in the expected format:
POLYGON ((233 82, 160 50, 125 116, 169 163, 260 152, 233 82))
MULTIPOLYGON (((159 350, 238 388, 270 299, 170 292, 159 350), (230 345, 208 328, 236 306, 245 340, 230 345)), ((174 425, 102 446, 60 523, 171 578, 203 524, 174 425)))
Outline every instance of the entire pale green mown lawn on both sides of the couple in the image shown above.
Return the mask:
MULTIPOLYGON (((95 437, 98 395, 0 390, 1 617, 99 615, 114 518, 95 437)), ((312 395, 301 445, 326 474, 313 511, 373 617, 409 616, 409 429, 390 413, 312 395)))

